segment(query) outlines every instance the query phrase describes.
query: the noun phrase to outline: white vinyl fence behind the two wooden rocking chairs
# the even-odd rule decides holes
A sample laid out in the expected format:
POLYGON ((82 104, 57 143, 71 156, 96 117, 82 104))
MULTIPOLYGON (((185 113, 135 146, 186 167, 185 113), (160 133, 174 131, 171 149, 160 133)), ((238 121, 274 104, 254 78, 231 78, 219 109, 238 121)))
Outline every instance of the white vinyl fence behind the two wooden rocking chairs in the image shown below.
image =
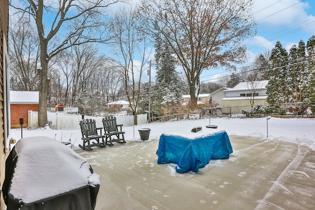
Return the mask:
MULTIPOLYGON (((117 124, 124 126, 133 125, 133 115, 115 116, 117 124)), ((104 117, 84 116, 85 119, 94 119, 97 127, 103 127, 102 119, 104 117)), ((147 115, 137 115, 138 124, 145 124, 147 122, 147 115)), ((80 129, 79 122, 82 120, 82 115, 66 114, 62 112, 47 112, 47 120, 53 129, 58 130, 77 130, 80 129)), ((38 112, 29 111, 29 127, 38 127, 38 112)))

